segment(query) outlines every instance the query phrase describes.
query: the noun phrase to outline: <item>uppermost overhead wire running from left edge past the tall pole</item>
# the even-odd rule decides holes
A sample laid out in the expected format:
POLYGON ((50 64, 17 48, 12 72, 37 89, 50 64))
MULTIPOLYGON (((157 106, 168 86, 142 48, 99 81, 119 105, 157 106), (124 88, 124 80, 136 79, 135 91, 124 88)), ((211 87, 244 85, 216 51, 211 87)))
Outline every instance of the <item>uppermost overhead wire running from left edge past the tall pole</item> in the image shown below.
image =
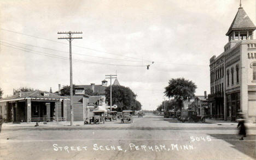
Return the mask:
MULTIPOLYGON (((59 44, 68 45, 67 43, 64 43, 64 42, 59 42, 59 41, 55 41, 55 40, 45 39, 45 38, 41 38, 41 37, 39 37, 39 36, 28 35, 28 34, 24 34, 24 33, 20 33, 20 32, 15 32, 15 31, 13 31, 13 30, 8 30, 8 29, 3 29, 3 28, 0 28, 0 29, 1 29, 1 30, 5 30, 5 31, 7 31, 7 32, 12 32, 12 33, 16 33, 16 34, 31 36, 31 37, 37 38, 37 39, 43 39, 43 40, 48 40, 48 41, 56 42, 56 43, 59 43, 59 44)), ((139 58, 135 58, 135 57, 124 56, 124 55, 117 54, 117 53, 112 53, 112 52, 100 51, 100 50, 96 50, 96 49, 93 49, 93 48, 88 48, 88 47, 83 47, 83 46, 78 46, 78 45, 73 45, 73 46, 79 47, 79 48, 84 48, 84 49, 86 49, 86 50, 91 50, 91 51, 96 51, 96 52, 102 52, 102 53, 107 53, 107 54, 113 54, 113 55, 115 55, 115 56, 122 56, 122 57, 126 57, 126 58, 139 59, 139 58)), ((146 60, 146 61, 147 61, 147 62, 150 62, 150 63, 153 63, 153 61, 150 61, 150 60, 146 60)))

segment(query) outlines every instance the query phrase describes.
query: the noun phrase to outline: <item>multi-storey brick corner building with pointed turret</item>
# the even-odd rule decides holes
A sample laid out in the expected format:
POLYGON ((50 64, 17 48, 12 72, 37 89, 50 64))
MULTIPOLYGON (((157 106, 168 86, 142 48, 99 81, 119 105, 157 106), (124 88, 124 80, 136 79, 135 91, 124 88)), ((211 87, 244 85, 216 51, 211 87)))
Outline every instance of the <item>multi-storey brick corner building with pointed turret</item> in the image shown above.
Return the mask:
POLYGON ((241 7, 226 33, 224 52, 210 59, 210 118, 235 121, 238 112, 256 122, 256 29, 241 7))

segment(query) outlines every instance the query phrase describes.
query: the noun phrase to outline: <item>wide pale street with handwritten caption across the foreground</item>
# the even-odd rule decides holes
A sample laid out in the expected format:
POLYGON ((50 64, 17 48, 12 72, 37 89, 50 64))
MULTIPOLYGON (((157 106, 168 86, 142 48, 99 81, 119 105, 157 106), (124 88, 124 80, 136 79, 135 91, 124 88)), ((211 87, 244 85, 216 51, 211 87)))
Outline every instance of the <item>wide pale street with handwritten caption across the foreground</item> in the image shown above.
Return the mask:
POLYGON ((255 159, 256 128, 134 116, 133 123, 2 127, 0 159, 255 159))

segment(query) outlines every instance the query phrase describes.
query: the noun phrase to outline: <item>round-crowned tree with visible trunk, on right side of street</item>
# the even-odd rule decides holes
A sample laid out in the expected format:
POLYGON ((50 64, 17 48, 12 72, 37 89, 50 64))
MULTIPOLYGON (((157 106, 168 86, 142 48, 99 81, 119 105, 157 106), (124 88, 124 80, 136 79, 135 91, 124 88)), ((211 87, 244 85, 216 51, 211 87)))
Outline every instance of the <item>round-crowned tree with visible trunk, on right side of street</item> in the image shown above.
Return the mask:
POLYGON ((172 78, 165 87, 165 95, 177 101, 179 109, 182 110, 183 101, 195 96, 195 83, 184 78, 172 78))

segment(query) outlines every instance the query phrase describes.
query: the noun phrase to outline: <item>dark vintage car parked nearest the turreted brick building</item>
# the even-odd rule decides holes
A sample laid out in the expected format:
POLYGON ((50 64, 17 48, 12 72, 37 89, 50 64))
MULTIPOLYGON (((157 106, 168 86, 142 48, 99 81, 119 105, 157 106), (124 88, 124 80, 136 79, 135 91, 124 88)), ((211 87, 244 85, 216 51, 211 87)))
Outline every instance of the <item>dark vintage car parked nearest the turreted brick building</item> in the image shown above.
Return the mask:
POLYGON ((205 116, 200 116, 197 115, 196 111, 193 110, 182 110, 181 112, 181 121, 185 122, 197 122, 197 121, 201 121, 201 122, 205 122, 205 116))

